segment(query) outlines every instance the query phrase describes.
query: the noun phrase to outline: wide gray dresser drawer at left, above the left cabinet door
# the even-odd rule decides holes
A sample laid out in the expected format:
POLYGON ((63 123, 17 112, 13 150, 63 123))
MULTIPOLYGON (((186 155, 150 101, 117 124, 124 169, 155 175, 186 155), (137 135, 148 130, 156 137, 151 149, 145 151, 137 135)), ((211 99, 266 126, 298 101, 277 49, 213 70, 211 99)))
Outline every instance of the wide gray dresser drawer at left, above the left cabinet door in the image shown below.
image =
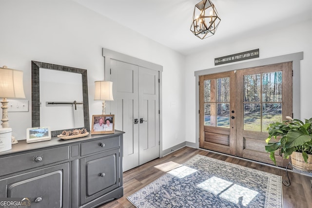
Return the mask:
POLYGON ((3 157, 0 158, 0 166, 3 167, 0 169, 0 175, 33 169, 68 159, 68 146, 3 157))

